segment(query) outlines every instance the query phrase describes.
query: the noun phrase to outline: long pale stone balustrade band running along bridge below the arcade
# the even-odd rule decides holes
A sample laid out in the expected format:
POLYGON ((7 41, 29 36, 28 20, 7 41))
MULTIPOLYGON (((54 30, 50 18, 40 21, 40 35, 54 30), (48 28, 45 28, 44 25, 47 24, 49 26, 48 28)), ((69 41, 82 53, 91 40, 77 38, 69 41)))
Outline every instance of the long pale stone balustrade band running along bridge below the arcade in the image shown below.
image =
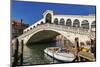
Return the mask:
POLYGON ((38 25, 37 27, 29 30, 28 32, 23 33, 21 36, 19 36, 19 38, 28 36, 29 34, 34 33, 35 31, 46 30, 46 29, 54 29, 54 30, 58 30, 58 31, 65 31, 65 32, 71 32, 71 33, 76 33, 76 34, 88 35, 88 36, 91 36, 91 37, 95 37, 95 32, 92 32, 89 29, 68 27, 68 26, 65 26, 65 25, 56 25, 56 24, 46 23, 46 24, 38 25))

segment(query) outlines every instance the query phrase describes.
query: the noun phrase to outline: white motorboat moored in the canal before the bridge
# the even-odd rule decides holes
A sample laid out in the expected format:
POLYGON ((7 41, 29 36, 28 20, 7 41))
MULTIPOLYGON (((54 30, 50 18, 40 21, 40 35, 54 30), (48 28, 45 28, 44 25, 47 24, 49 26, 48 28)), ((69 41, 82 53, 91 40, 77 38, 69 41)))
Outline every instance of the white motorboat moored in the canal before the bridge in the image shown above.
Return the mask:
POLYGON ((75 59, 75 55, 64 48, 48 47, 44 50, 44 52, 49 56, 63 62, 71 62, 75 59))

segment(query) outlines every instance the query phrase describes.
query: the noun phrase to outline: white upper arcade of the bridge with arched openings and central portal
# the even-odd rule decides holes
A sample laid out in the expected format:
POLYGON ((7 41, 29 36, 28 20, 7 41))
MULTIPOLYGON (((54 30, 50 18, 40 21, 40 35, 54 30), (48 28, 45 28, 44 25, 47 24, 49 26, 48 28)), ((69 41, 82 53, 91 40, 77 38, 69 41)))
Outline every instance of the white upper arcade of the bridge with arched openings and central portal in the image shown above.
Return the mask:
POLYGON ((43 13, 42 19, 26 28, 23 32, 25 33, 43 23, 81 27, 92 31, 95 31, 96 28, 95 15, 56 15, 53 11, 47 10, 43 13))

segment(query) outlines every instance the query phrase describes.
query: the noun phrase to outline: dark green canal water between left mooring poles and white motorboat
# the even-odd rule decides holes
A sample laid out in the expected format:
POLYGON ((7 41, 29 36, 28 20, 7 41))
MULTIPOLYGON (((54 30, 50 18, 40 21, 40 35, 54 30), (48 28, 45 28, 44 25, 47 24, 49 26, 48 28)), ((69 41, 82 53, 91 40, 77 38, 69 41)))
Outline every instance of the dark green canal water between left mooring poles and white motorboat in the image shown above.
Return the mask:
POLYGON ((29 44, 24 46, 23 65, 62 63, 46 55, 44 49, 55 47, 56 43, 29 44))

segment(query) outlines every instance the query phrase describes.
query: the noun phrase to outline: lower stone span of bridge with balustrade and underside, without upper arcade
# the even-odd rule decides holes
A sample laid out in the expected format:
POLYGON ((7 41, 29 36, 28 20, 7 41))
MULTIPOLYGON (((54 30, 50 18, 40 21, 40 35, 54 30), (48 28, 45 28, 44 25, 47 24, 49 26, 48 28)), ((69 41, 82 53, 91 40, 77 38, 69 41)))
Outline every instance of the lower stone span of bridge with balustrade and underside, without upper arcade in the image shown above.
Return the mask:
MULTIPOLYGON (((86 42, 91 38, 95 38, 95 32, 89 29, 67 27, 64 25, 56 25, 50 23, 44 23, 31 29, 30 31, 23 33, 18 38, 19 42, 23 40, 24 44, 28 42, 38 42, 49 38, 62 35, 68 39, 73 45, 75 44, 75 38, 79 38, 79 42, 86 42)), ((14 42, 14 39, 12 40, 14 42)))

